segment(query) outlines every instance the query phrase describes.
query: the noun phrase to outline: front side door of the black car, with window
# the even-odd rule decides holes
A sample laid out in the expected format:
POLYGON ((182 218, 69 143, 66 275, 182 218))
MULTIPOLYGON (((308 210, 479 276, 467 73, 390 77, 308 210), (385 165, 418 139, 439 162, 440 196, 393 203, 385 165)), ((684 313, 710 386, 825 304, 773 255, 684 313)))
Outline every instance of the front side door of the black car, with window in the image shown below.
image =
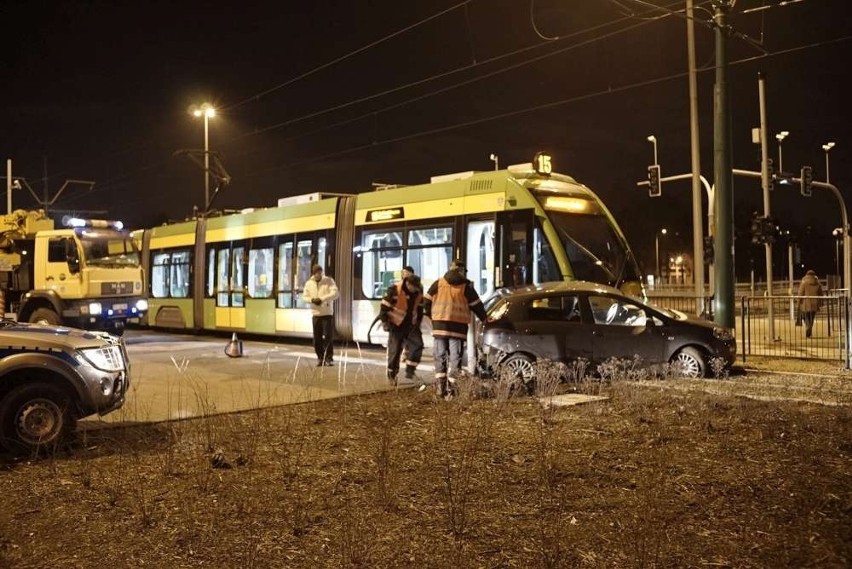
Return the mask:
POLYGON ((592 352, 596 364, 610 358, 638 356, 646 363, 663 361, 665 336, 660 326, 649 321, 642 305, 626 297, 589 295, 592 352))

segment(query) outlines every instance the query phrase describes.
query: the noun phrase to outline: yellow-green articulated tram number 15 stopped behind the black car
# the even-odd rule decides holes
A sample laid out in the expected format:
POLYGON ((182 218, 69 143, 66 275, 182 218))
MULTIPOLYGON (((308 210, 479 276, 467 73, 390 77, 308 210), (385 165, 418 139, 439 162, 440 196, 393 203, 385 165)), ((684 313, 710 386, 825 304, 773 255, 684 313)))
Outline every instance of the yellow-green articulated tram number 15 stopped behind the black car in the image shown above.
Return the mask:
MULTIPOLYGON (((453 259, 483 297, 498 288, 587 280, 642 294, 616 220, 588 187, 552 171, 549 155, 428 184, 314 193, 277 207, 134 232, 146 267, 143 325, 311 337, 302 288, 320 264, 340 288, 340 340, 383 342, 384 291, 414 267, 428 287, 453 259), (372 336, 371 336, 372 332, 372 336)), ((431 336, 424 324, 424 340, 431 336)))

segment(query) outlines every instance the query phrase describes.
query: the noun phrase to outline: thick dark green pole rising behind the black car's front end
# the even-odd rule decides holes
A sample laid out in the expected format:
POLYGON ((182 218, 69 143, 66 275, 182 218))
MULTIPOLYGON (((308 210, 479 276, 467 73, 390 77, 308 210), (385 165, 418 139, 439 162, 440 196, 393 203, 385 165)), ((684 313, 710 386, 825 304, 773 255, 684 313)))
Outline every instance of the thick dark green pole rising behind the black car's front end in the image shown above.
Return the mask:
POLYGON ((728 111, 728 24, 730 0, 713 0, 716 37, 716 84, 713 89, 713 177, 716 200, 714 320, 734 327, 734 177, 728 111))

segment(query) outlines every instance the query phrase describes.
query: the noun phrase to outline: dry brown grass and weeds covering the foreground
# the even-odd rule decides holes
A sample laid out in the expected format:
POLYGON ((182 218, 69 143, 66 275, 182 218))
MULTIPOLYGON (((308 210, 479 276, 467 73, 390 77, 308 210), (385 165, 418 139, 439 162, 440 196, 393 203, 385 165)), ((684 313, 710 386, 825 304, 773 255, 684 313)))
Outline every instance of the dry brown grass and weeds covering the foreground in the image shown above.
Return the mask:
POLYGON ((787 376, 751 373, 540 382, 608 397, 568 408, 466 383, 95 424, 4 464, 0 567, 847 567, 834 375, 830 405, 752 397, 787 376))

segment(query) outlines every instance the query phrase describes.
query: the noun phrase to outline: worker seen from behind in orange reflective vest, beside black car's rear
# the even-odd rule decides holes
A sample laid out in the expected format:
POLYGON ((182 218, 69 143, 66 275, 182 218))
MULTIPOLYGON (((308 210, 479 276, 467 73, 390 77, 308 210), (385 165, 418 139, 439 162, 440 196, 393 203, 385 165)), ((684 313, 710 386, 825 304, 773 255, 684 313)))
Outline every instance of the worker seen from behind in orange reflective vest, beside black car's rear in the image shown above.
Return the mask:
POLYGON ((453 261, 450 270, 432 283, 423 297, 425 314, 432 319, 435 385, 445 398, 452 396, 450 384, 462 367, 470 313, 485 321, 485 307, 466 273, 463 261, 453 261))

